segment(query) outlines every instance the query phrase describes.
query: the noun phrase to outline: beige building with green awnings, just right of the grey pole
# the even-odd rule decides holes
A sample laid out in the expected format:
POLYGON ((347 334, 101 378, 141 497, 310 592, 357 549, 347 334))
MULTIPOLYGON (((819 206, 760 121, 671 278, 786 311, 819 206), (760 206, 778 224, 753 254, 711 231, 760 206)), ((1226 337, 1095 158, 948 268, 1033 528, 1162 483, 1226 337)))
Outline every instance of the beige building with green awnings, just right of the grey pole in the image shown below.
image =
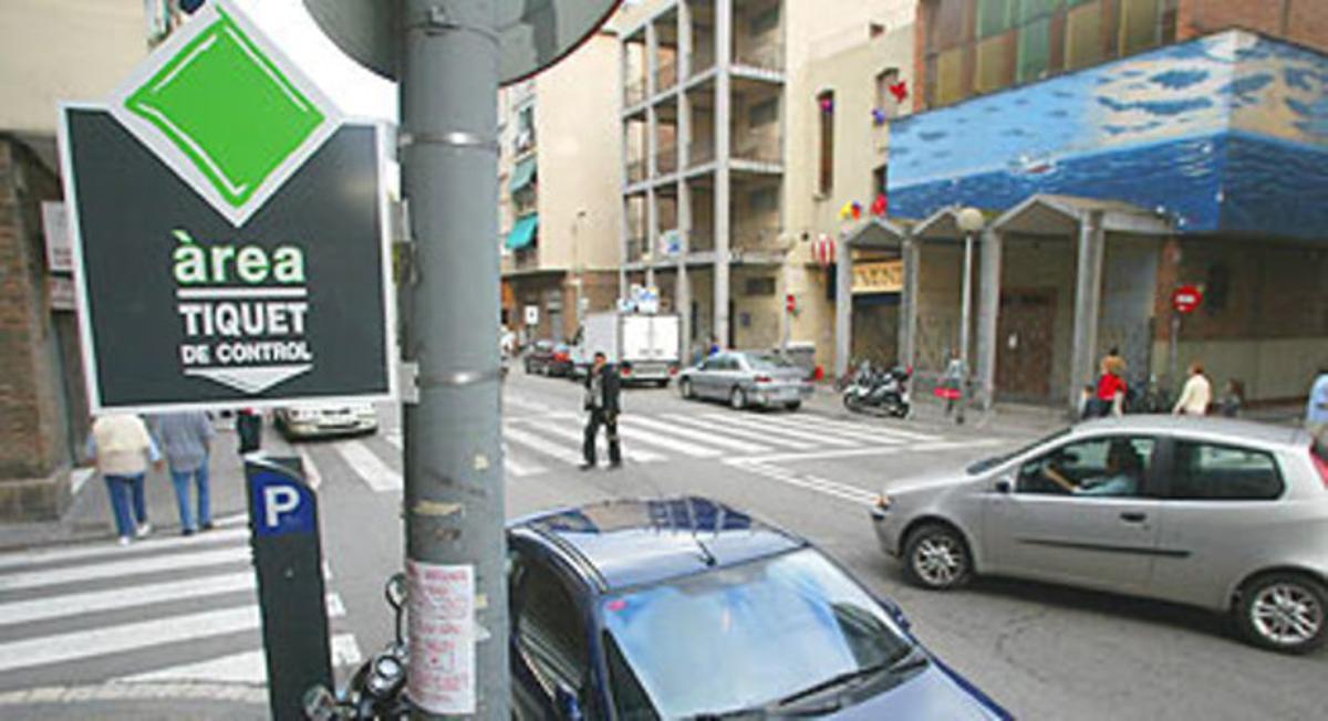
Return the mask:
POLYGON ((571 340, 619 297, 616 118, 612 25, 499 93, 502 317, 525 340, 571 340))

